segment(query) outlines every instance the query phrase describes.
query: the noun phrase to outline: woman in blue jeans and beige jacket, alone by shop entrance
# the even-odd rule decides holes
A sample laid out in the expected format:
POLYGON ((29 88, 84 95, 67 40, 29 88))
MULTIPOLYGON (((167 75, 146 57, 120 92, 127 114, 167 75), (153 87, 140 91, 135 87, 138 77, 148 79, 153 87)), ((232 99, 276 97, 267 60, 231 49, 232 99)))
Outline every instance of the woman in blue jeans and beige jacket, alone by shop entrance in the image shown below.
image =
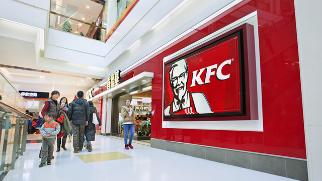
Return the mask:
POLYGON ((132 140, 134 137, 134 112, 131 106, 131 100, 126 99, 125 106, 122 107, 121 116, 123 117, 123 129, 124 129, 124 144, 125 149, 133 149, 132 140), (129 136, 130 130, 130 140, 127 144, 127 138, 129 136))

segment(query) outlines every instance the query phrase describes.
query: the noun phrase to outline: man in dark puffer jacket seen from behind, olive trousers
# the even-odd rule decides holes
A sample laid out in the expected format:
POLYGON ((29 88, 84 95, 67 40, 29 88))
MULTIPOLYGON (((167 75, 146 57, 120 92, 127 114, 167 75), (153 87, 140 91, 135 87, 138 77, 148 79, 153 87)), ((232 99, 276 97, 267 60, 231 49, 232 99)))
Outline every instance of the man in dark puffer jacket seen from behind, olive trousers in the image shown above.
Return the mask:
POLYGON ((74 99, 68 109, 68 119, 72 123, 72 146, 74 153, 82 151, 84 144, 85 126, 90 121, 90 105, 83 99, 83 91, 77 92, 77 99, 74 99))

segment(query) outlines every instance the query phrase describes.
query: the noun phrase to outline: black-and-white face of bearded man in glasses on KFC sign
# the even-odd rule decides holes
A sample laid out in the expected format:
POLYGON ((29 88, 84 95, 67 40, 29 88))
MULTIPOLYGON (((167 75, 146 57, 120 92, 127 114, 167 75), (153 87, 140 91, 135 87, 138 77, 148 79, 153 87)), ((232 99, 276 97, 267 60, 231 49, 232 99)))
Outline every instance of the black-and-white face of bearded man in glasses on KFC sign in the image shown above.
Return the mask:
POLYGON ((185 59, 170 66, 169 80, 175 99, 181 101, 187 91, 188 84, 188 65, 185 59))

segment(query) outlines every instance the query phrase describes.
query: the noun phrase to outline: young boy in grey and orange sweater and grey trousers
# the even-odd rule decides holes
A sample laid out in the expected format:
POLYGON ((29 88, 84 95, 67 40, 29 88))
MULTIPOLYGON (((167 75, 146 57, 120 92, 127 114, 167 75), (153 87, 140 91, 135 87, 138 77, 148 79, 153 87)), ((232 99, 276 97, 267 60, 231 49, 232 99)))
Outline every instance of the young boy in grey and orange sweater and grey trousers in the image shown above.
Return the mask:
POLYGON ((59 124, 54 121, 54 114, 47 113, 44 117, 45 123, 40 128, 40 134, 42 136, 42 146, 41 146, 41 162, 39 167, 43 167, 51 164, 51 156, 54 151, 55 140, 57 134, 60 131, 59 124))

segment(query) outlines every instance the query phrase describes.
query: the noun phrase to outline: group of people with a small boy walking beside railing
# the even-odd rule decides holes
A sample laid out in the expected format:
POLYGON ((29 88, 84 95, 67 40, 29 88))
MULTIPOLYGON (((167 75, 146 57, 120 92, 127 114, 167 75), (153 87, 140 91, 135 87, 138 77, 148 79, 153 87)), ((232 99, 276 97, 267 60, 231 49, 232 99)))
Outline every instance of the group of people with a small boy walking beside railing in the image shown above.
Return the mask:
POLYGON ((67 136, 72 135, 73 152, 82 151, 84 145, 84 136, 86 136, 88 151, 93 151, 91 141, 95 141, 96 125, 92 122, 93 113, 95 113, 99 127, 102 123, 97 113, 96 107, 92 101, 87 102, 83 96, 84 92, 77 92, 77 99, 74 99, 69 105, 67 99, 62 97, 58 103, 60 94, 58 91, 53 91, 51 97, 45 102, 41 111, 45 123, 40 128, 42 136, 41 147, 41 162, 39 167, 51 164, 53 158, 53 150, 55 138, 59 134, 63 134, 61 138, 57 138, 57 152, 60 151, 60 146, 64 150, 67 136), (60 123, 57 119, 61 119, 60 123))

